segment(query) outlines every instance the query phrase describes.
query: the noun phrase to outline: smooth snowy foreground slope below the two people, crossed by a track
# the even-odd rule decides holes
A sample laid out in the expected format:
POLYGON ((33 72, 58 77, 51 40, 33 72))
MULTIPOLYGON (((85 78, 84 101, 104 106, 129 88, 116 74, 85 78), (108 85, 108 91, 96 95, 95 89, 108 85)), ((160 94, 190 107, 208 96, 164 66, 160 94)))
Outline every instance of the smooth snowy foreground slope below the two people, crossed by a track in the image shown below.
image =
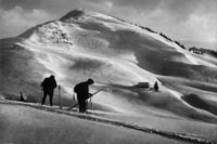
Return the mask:
POLYGON ((90 112, 87 115, 56 107, 41 107, 38 104, 7 101, 0 103, 2 116, 0 143, 212 144, 216 142, 217 126, 210 123, 169 118, 154 119, 153 123, 151 117, 136 115, 101 112, 90 112), (162 127, 159 121, 166 125, 162 127), (167 125, 168 121, 170 125, 167 125))

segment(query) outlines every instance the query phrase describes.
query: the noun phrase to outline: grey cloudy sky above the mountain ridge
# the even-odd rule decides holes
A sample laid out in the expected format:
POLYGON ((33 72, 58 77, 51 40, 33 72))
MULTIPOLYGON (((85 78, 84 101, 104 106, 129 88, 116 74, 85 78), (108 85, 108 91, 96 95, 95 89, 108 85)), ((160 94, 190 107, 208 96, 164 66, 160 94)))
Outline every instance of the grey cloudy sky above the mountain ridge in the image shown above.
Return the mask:
POLYGON ((0 0, 0 38, 80 8, 150 27, 174 40, 217 42, 217 0, 0 0))

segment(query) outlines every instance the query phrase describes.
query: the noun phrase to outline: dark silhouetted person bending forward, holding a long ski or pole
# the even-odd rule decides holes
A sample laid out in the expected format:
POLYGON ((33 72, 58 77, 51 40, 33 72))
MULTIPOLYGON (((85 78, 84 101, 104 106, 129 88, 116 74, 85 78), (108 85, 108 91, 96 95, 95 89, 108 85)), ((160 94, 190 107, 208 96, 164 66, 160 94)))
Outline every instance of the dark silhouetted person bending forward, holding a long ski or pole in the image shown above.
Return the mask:
POLYGON ((94 81, 92 79, 88 79, 85 82, 76 84, 74 88, 75 93, 77 93, 80 113, 86 113, 87 110, 87 100, 92 95, 91 93, 89 93, 89 86, 93 83, 94 81))

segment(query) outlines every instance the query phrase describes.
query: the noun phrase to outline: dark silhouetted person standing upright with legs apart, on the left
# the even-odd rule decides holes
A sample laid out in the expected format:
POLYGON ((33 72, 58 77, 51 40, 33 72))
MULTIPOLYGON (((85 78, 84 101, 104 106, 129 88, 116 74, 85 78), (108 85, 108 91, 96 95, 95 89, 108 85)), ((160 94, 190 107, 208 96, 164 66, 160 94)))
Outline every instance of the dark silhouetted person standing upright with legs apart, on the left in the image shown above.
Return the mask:
POLYGON ((41 82, 41 87, 43 90, 43 97, 42 97, 42 102, 41 105, 43 105, 46 103, 46 97, 47 95, 50 96, 50 105, 53 105, 53 90, 56 88, 56 81, 55 81, 55 77, 53 75, 51 75, 49 78, 44 78, 44 80, 41 82))

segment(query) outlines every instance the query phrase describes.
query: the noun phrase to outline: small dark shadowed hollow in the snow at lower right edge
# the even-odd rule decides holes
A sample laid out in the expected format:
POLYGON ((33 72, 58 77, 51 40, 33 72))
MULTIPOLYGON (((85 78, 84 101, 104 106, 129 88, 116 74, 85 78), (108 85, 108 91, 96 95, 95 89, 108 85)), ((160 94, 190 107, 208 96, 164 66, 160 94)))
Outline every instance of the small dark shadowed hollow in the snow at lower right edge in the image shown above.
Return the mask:
POLYGON ((196 94, 184 95, 184 96, 181 96, 181 99, 184 100, 188 104, 190 104, 193 107, 209 112, 217 116, 217 105, 206 100, 201 99, 196 94))

